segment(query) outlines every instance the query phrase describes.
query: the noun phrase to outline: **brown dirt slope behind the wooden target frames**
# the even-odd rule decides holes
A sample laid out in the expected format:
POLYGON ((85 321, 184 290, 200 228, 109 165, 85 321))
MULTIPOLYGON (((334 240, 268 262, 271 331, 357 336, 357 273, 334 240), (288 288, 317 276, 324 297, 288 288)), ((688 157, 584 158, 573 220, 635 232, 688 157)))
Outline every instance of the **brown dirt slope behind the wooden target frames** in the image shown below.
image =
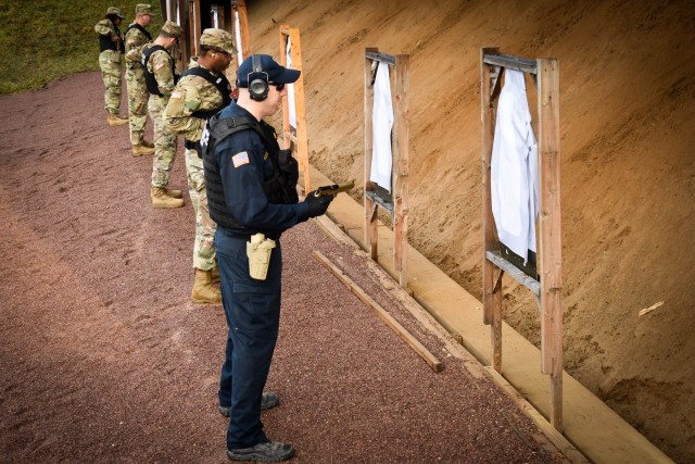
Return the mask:
MULTIPOLYGON (((253 50, 278 55, 277 23, 301 30, 311 161, 334 180, 364 176, 365 47, 410 54, 409 240, 478 297, 479 50, 559 59, 567 369, 695 461, 693 2, 249 3, 253 50)), ((506 290, 538 343, 535 303, 506 290)))

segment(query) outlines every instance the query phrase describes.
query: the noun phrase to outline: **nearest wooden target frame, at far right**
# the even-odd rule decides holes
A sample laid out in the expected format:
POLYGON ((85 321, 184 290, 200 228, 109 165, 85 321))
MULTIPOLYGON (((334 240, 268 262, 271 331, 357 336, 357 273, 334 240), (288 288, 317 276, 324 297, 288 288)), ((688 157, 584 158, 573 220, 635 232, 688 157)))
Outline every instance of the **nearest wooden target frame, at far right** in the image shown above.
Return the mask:
POLYGON ((480 50, 482 121, 483 323, 491 326, 492 366, 502 372, 502 277, 505 273, 531 290, 541 309, 541 372, 551 379, 551 424, 563 431, 563 246, 560 240, 559 62, 480 50), (498 251, 491 198, 491 160, 504 70, 530 74, 536 86, 539 153, 539 278, 525 274, 498 251))

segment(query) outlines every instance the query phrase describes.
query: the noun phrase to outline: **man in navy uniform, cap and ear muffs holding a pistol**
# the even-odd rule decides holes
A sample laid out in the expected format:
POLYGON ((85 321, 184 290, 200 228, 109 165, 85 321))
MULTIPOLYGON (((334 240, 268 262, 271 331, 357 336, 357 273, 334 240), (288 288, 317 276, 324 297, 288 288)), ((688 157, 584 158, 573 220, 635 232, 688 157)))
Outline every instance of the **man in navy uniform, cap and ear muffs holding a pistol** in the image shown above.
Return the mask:
POLYGON ((275 129, 263 121, 282 106, 285 86, 296 81, 300 72, 256 54, 239 66, 237 76, 238 101, 208 122, 201 139, 229 326, 219 411, 229 416, 229 459, 285 461, 294 448, 270 441, 261 422, 261 410, 278 404, 277 394, 263 388, 280 322, 280 235, 324 214, 333 197, 309 192, 298 202, 296 162, 279 150, 275 129), (267 253, 260 261, 251 251, 256 248, 267 253), (265 262, 265 273, 252 276, 250 256, 252 262, 265 262))

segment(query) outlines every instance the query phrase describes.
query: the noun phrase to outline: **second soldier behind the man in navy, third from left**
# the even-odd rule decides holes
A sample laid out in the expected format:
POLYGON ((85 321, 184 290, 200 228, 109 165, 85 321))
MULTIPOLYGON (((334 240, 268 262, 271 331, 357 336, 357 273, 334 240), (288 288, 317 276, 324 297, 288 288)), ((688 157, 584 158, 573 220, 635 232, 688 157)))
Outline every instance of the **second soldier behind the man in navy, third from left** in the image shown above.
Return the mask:
POLYGON ((162 115, 176 86, 174 58, 169 50, 178 43, 181 27, 167 21, 152 43, 142 47, 144 81, 150 91, 148 111, 154 123, 154 162, 150 196, 154 208, 180 208, 184 205, 181 190, 169 190, 172 166, 176 158, 176 135, 164 127, 162 115))

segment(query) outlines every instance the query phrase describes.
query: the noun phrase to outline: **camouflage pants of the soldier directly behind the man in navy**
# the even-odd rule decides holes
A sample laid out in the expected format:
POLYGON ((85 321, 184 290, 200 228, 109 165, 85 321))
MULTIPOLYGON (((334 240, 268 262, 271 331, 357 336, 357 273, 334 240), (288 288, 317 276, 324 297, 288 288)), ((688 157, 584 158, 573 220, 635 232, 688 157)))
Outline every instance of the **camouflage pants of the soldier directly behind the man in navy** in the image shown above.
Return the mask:
POLYGON ((195 242, 193 243, 193 267, 210 271, 215 264, 215 230, 217 224, 210 218, 207 189, 203 173, 203 160, 195 150, 186 150, 186 177, 188 192, 195 211, 195 242))

